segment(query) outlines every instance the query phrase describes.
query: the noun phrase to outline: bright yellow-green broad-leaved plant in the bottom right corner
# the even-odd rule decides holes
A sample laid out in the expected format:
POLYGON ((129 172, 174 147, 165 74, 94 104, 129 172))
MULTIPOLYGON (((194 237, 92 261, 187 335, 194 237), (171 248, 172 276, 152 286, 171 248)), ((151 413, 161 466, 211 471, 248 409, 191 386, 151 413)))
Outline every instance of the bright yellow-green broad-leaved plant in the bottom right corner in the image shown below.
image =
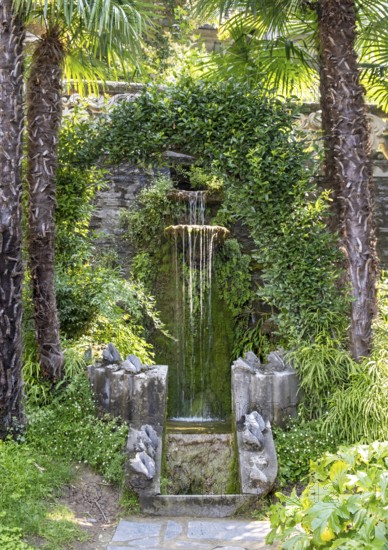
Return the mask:
POLYGON ((311 464, 298 498, 277 496, 267 541, 281 548, 380 548, 388 540, 388 443, 342 447, 311 464))

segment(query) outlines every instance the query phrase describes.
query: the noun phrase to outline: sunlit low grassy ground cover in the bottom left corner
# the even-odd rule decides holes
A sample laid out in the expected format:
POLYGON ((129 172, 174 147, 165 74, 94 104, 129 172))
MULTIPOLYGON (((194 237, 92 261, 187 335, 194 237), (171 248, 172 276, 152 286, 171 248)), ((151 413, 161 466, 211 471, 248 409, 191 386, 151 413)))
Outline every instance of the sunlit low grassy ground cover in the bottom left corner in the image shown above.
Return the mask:
POLYGON ((0 441, 2 549, 30 550, 22 540, 27 535, 42 537, 45 547, 52 550, 87 538, 71 521, 68 510, 53 510, 53 498, 59 496, 60 488, 70 479, 67 463, 59 462, 52 455, 45 456, 32 445, 0 441))

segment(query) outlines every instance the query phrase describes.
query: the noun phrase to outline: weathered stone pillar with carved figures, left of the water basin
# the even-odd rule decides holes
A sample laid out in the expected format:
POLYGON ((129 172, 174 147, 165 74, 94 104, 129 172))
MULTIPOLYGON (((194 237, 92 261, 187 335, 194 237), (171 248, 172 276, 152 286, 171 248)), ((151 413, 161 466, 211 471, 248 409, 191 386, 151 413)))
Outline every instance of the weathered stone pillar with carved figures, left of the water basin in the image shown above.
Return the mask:
POLYGON ((126 484, 139 496, 158 495, 168 367, 142 365, 133 355, 121 361, 113 344, 104 359, 88 367, 89 379, 98 406, 129 424, 126 484))

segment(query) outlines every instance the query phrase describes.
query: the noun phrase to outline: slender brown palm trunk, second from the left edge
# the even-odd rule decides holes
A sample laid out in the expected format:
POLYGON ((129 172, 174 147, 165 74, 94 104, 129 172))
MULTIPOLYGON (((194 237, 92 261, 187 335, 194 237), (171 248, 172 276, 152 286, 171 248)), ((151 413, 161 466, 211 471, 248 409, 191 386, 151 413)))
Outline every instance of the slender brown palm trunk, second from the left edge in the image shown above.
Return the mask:
POLYGON ((36 338, 42 374, 60 380, 63 354, 54 286, 58 132, 64 49, 57 29, 36 46, 27 82, 29 257, 36 338))

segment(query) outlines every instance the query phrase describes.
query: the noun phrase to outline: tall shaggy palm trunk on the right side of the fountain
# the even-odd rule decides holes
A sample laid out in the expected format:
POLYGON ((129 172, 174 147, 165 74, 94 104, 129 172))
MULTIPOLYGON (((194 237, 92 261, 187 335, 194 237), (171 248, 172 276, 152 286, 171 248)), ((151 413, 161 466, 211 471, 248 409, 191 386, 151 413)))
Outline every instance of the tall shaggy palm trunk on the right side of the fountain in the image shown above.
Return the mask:
POLYGON ((319 0, 318 20, 326 170, 340 205, 340 233, 353 297, 350 349, 359 361, 371 348, 378 260, 368 124, 354 50, 354 0, 319 0))

